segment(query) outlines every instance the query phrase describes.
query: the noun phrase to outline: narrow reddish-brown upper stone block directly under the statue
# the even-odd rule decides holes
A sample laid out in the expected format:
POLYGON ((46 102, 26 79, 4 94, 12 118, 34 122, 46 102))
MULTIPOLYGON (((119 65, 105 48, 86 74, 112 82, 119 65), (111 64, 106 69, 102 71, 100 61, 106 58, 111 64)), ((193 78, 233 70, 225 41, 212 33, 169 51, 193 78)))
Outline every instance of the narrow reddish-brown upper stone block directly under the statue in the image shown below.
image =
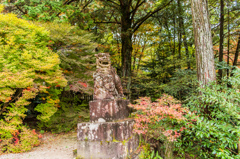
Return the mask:
POLYGON ((128 100, 103 99, 89 102, 90 121, 103 122, 127 118, 129 115, 128 100))

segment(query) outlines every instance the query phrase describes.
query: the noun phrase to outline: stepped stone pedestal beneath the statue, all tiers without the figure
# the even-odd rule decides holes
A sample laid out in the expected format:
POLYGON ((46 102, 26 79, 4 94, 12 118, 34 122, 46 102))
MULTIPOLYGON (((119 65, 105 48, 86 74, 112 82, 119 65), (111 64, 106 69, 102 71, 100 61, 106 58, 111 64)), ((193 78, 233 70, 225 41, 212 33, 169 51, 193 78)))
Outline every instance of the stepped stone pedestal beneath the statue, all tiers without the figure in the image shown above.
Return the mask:
POLYGON ((138 145, 128 119, 128 100, 103 99, 89 103, 90 121, 78 124, 77 155, 84 159, 125 159, 138 145))

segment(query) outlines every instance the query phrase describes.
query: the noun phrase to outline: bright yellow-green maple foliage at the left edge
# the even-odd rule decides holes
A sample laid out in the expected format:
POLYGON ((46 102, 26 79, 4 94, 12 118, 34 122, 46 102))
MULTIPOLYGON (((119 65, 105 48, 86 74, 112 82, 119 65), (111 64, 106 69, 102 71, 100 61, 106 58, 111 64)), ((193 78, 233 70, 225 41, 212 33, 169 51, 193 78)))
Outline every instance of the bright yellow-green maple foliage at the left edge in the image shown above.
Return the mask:
POLYGON ((48 44, 44 28, 14 14, 0 14, 0 154, 39 144, 38 135, 22 125, 31 99, 46 94, 35 108, 41 121, 48 121, 58 109, 58 87, 66 86, 67 80, 59 56, 48 44))

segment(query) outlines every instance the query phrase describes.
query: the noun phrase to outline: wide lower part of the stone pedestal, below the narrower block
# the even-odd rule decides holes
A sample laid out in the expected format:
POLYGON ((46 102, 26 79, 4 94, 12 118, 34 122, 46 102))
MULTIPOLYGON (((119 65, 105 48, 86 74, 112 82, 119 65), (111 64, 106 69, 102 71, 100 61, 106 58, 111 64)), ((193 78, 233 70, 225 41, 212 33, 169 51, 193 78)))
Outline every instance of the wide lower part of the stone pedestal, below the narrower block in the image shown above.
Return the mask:
POLYGON ((134 120, 78 124, 77 155, 84 159, 125 159, 139 145, 134 120))

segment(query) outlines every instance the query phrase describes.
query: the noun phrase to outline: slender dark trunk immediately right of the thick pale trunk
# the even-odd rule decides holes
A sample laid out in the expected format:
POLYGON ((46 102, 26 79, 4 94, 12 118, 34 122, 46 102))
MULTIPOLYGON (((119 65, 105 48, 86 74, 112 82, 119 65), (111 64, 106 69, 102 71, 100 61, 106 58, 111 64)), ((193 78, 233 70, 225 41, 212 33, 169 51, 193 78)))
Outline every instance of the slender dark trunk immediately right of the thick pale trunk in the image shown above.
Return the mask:
MULTIPOLYGON (((219 62, 223 61, 223 40, 224 40, 224 33, 223 33, 223 23, 224 23, 224 1, 220 0, 221 3, 221 13, 220 13, 220 44, 219 44, 219 62)), ((223 70, 219 69, 218 71, 219 79, 222 79, 223 70)))

